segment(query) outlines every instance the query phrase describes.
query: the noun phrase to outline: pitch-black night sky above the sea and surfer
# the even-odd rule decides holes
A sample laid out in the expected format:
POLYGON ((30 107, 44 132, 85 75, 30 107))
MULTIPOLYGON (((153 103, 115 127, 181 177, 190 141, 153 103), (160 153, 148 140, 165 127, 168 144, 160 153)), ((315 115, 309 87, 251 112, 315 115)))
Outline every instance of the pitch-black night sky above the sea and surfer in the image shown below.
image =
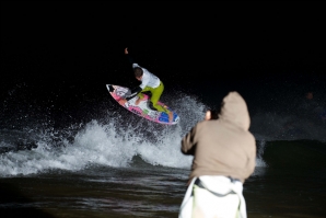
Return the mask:
POLYGON ((307 91, 325 79, 325 21, 318 1, 1 1, 1 81, 135 82, 128 46, 167 88, 307 91))

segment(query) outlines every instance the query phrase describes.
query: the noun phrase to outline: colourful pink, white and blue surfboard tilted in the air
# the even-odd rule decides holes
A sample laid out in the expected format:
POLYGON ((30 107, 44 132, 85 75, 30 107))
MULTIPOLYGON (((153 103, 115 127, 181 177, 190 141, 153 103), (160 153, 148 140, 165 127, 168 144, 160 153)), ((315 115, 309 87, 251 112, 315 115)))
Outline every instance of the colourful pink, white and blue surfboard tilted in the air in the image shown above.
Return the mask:
POLYGON ((158 104, 164 106, 164 108, 166 108, 167 112, 173 113, 172 121, 168 122, 168 114, 166 112, 159 112, 159 111, 151 110, 149 107, 150 96, 145 93, 143 93, 144 97, 139 102, 139 104, 136 104, 136 101, 139 99, 138 96, 135 96, 129 101, 121 97, 126 93, 128 92, 130 93, 129 88, 120 87, 116 84, 106 84, 106 89, 108 90, 109 94, 113 96, 113 99, 116 102, 118 102, 123 107, 127 108, 133 114, 137 114, 138 116, 147 118, 151 122, 155 122, 159 124, 166 124, 166 125, 175 125, 179 122, 179 116, 175 112, 173 112, 168 106, 166 106, 164 103, 160 101, 158 102, 158 104), (114 88, 114 91, 109 89, 109 85, 114 88))

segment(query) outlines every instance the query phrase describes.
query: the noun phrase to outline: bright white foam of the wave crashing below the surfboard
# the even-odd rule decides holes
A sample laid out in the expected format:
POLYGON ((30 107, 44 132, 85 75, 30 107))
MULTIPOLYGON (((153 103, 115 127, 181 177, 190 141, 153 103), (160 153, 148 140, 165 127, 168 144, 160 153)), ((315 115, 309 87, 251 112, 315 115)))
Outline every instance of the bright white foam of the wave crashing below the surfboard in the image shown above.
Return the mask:
MULTIPOLYGON (((90 164, 128 168, 136 156, 152 165, 190 169, 193 156, 182 153, 181 140, 202 121, 206 105, 183 93, 174 95, 182 101, 167 104, 182 117, 177 125, 164 126, 132 114, 126 121, 116 111, 108 110, 103 119, 61 129, 61 135, 51 127, 44 129, 33 137, 37 138, 36 149, 2 153, 0 176, 56 169, 79 171, 90 164), (71 136, 73 140, 68 139, 71 136), (56 144, 58 140, 60 146, 56 144)), ((265 164, 261 157, 256 162, 258 167, 265 164)))

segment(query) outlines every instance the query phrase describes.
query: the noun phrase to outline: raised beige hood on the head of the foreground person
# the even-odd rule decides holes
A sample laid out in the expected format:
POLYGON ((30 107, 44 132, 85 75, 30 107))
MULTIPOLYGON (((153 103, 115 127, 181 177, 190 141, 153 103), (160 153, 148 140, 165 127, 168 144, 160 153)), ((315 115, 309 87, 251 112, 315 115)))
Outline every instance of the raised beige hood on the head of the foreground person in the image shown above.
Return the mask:
POLYGON ((219 118, 245 130, 248 130, 251 126, 247 104, 237 92, 229 92, 224 96, 219 118))

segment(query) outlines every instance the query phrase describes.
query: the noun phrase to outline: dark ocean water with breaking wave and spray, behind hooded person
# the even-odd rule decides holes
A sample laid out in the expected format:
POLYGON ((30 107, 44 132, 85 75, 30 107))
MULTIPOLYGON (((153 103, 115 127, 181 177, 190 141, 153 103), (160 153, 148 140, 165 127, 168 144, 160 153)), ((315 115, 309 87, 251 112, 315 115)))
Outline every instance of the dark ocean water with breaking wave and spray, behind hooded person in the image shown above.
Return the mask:
MULTIPOLYGON (((210 106, 166 91, 162 101, 182 119, 164 126, 120 107, 104 84, 96 96, 66 87, 38 93, 42 87, 26 82, 3 93, 1 217, 177 217, 193 160, 181 140, 210 106), (68 92, 82 101, 60 100, 68 92)), ((325 125, 308 121, 252 115, 257 159, 244 184, 248 217, 325 217, 325 125)))

